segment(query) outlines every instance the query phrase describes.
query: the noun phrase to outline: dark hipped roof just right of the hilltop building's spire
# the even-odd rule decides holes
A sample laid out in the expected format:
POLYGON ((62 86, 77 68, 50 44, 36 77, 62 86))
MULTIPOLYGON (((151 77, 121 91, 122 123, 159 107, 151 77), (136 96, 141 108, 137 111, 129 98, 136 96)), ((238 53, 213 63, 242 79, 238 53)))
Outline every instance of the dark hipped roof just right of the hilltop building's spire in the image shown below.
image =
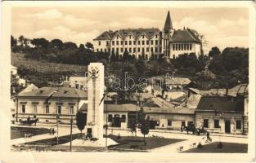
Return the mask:
POLYGON ((173 33, 171 42, 198 42, 200 39, 198 36, 195 36, 195 33, 191 32, 191 29, 178 29, 173 33))

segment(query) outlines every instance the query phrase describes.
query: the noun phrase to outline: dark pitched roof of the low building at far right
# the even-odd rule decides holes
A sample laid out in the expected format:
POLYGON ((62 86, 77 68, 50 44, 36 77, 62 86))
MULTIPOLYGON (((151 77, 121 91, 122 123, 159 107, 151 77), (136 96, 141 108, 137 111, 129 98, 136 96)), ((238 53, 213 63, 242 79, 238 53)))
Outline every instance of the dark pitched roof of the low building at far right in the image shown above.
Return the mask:
POLYGON ((201 97, 196 111, 243 112, 243 104, 234 97, 201 97))

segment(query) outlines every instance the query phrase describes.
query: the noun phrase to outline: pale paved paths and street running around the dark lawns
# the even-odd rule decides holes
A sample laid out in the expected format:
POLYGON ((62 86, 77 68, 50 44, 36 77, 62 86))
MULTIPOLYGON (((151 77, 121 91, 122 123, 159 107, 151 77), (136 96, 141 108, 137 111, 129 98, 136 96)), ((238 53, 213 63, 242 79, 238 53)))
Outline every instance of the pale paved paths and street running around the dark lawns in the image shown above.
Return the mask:
MULTIPOLYGON (((22 126, 19 126, 22 127, 22 126)), ((28 126, 26 126, 28 127, 28 126)), ((32 128, 35 127, 43 127, 43 128, 51 128, 52 126, 29 126, 32 128)), ((55 130, 56 130, 56 126, 55 130)), ((84 131, 83 131, 84 132, 84 131)), ((73 134, 79 134, 80 131, 77 127, 73 128, 73 134)), ((106 130, 104 130, 104 134, 106 133, 106 130)), ((115 134, 120 136, 132 136, 132 133, 130 130, 118 130, 118 129, 109 129, 107 131, 107 134, 115 134)), ((59 134, 61 136, 70 135, 70 127, 69 126, 59 126, 59 134)), ((134 134, 135 136, 135 134, 134 134)), ((52 139, 55 138, 55 135, 51 134, 40 134, 35 135, 30 138, 20 138, 20 139, 11 139, 11 145, 18 145, 21 143, 29 143, 34 142, 42 139, 52 139)), ((141 134, 141 131, 137 131, 137 137, 143 137, 141 134)), ((182 152, 186 151, 191 148, 196 148, 198 143, 201 143, 202 145, 206 144, 206 135, 194 135, 194 134, 186 134, 186 132, 181 131, 170 131, 170 130, 150 130, 150 133, 146 135, 146 137, 159 137, 159 138, 166 138, 166 139, 186 139, 185 141, 177 142, 177 143, 171 143, 166 146, 162 146, 159 148, 150 149, 149 152, 182 152)), ((210 135, 212 142, 226 142, 226 143, 248 143, 247 142, 247 136, 244 135, 236 135, 236 134, 211 134, 210 135)), ((67 143, 68 144, 68 143, 67 143)), ((83 144, 81 144, 83 145, 83 144)), ((78 146, 78 144, 76 144, 78 146)))

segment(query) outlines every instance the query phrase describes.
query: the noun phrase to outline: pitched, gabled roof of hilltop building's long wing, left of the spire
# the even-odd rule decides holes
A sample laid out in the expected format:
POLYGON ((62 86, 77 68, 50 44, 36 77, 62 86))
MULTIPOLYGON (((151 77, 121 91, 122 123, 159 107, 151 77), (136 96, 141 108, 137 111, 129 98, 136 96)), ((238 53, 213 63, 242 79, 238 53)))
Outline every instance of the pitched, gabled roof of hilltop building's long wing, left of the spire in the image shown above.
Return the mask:
POLYGON ((110 39, 113 39, 117 34, 119 34, 119 36, 122 39, 124 39, 125 37, 128 37, 129 34, 131 34, 136 39, 138 37, 141 37, 143 34, 146 37, 151 38, 151 37, 154 37, 155 34, 159 34, 159 33, 160 33, 160 29, 158 28, 119 29, 115 32, 106 31, 102 33, 100 36, 96 37, 94 40, 110 40, 110 39))

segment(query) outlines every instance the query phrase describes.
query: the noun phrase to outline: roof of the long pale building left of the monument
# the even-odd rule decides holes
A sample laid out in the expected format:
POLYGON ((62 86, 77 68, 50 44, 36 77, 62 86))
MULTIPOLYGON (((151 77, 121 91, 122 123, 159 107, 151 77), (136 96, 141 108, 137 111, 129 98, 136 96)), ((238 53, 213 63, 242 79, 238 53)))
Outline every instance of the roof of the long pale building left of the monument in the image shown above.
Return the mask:
POLYGON ((53 93, 52 97, 58 98, 87 98, 88 92, 83 90, 78 90, 75 88, 68 88, 68 87, 42 87, 38 90, 32 90, 25 93, 20 93, 18 97, 48 97, 53 93))

